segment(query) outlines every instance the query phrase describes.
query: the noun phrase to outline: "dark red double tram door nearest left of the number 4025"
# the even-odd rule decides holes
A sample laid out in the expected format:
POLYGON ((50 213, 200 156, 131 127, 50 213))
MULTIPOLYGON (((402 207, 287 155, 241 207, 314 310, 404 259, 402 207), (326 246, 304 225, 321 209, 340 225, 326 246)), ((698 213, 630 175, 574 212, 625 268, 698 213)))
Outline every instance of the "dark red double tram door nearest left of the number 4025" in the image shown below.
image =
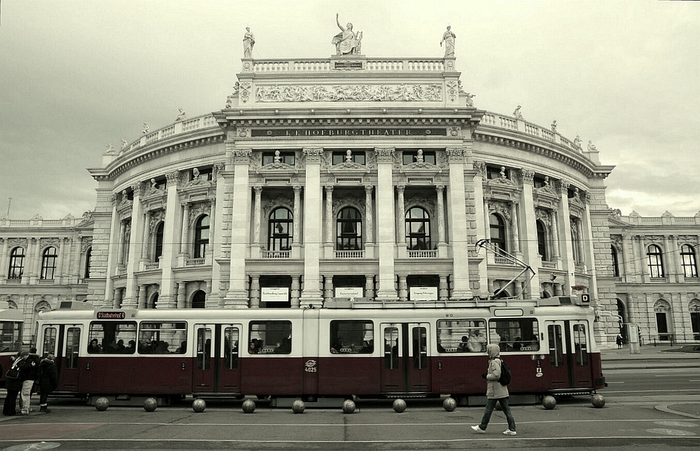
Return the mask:
POLYGON ((195 324, 193 392, 239 393, 241 324, 195 324))

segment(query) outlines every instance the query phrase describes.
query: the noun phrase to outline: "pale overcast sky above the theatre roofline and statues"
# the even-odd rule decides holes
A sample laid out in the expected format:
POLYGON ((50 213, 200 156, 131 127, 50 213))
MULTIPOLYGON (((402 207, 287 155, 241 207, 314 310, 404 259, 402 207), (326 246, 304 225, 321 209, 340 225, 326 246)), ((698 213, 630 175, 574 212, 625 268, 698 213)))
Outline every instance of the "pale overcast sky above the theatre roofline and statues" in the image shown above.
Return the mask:
POLYGON ((105 144, 223 108, 253 57, 329 57, 340 21, 368 57, 440 57, 456 34, 479 109, 592 140, 622 214, 700 210, 700 2, 3 0, 0 216, 94 208, 105 144))

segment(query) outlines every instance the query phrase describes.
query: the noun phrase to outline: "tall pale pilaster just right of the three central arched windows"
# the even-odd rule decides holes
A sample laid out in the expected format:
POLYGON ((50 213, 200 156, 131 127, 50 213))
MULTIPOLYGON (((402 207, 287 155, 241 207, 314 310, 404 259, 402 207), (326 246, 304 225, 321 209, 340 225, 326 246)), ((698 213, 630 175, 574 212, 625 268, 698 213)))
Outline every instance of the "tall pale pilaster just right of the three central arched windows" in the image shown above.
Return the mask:
POLYGON ((447 202, 449 204, 449 230, 452 231, 452 253, 454 257, 452 278, 452 300, 472 298, 469 283, 469 244, 467 237, 466 206, 464 199, 464 163, 467 150, 463 147, 447 148, 449 161, 449 189, 447 202))

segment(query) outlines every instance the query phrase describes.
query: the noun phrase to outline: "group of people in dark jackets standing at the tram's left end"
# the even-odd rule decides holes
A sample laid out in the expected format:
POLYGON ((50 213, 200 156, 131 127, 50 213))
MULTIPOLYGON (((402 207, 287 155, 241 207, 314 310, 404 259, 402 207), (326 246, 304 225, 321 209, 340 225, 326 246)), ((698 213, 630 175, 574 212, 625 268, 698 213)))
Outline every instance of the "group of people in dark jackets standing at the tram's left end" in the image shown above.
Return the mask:
POLYGON ((20 395, 20 415, 29 415, 31 408, 31 393, 38 385, 39 411, 49 413, 48 395, 58 387, 58 372, 54 363, 55 356, 48 354, 45 359, 36 354, 36 347, 22 351, 13 362, 11 368, 19 370, 18 377, 7 377, 5 388, 7 395, 3 404, 2 414, 8 417, 17 415, 17 397, 20 395))

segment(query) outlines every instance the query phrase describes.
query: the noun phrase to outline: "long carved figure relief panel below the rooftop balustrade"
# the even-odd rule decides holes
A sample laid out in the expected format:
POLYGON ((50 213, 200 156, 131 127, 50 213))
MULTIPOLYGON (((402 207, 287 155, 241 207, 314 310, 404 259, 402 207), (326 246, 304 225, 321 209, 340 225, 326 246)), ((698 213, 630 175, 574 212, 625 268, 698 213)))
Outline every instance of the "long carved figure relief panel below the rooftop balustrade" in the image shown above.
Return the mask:
POLYGON ((260 85, 255 88, 255 99, 257 102, 442 102, 442 86, 437 83, 260 85))

